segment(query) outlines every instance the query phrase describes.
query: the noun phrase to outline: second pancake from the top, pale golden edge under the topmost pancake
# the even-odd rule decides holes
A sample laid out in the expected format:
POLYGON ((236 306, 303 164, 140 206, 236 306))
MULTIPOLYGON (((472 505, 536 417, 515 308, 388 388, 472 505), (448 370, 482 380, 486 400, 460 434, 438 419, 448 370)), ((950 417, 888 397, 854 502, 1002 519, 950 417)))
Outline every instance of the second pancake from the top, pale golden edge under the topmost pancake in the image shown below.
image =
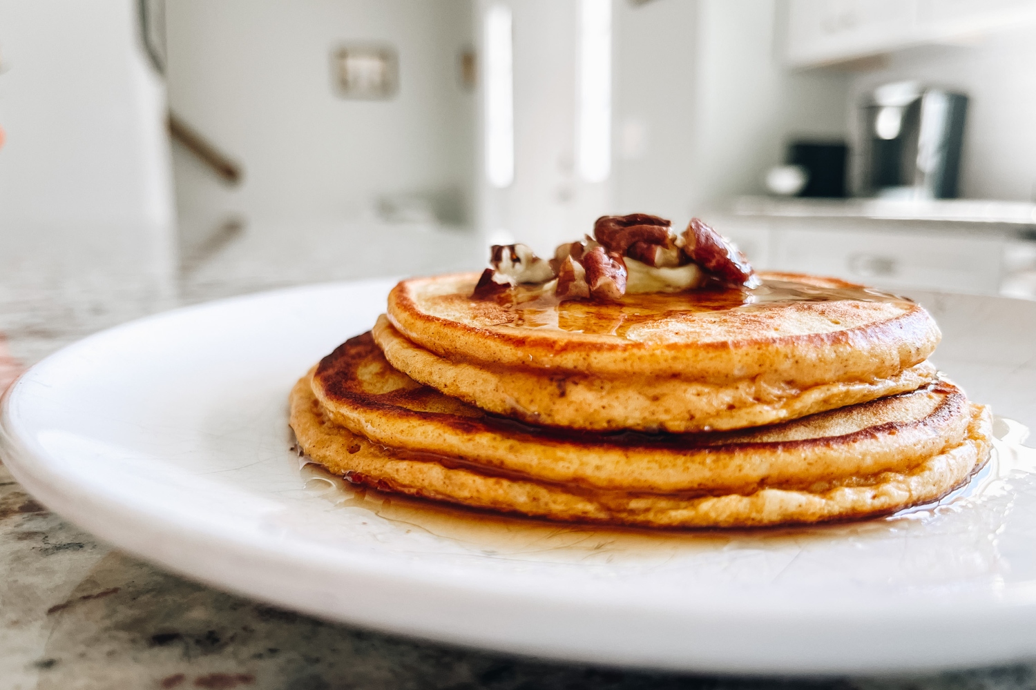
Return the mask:
POLYGON ((712 384, 677 377, 605 378, 445 359, 405 338, 384 314, 372 333, 394 367, 447 395, 529 424, 587 430, 762 426, 916 390, 938 378, 928 362, 887 379, 804 389, 759 379, 712 384))

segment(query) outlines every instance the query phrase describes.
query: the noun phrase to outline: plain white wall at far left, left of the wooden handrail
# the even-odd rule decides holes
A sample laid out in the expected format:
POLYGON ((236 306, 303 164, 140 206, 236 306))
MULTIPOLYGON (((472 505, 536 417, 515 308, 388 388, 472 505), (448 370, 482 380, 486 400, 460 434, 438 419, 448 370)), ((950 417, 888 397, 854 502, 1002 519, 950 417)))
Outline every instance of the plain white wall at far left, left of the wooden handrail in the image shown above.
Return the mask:
POLYGON ((136 2, 0 0, 0 239, 68 224, 167 231, 165 94, 136 2))

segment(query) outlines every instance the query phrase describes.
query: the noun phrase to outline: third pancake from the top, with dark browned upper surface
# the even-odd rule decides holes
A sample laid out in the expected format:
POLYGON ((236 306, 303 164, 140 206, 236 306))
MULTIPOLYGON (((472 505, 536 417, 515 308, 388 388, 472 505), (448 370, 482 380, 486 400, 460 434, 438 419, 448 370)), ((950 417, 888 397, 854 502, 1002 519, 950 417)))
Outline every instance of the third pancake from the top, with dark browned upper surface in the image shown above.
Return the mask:
MULTIPOLYGON (((872 425, 822 440, 786 439, 797 429, 829 418, 844 419, 853 411, 822 413, 747 432, 784 439, 766 443, 752 441, 751 436, 746 441, 746 432, 645 438, 529 428, 421 387, 392 369, 370 333, 351 338, 321 360, 312 386, 324 414, 333 421, 384 446, 454 461, 470 460, 546 481, 606 489, 748 492, 757 490, 764 482, 809 486, 846 473, 873 474, 911 467, 959 442, 967 424, 963 393, 948 382, 940 382, 937 386, 945 391, 945 399, 924 419, 872 425), (364 366, 401 378, 399 388, 381 394, 365 390, 357 381, 357 371, 364 366), (414 407, 414 400, 421 402, 421 409, 404 407, 414 407), (448 410, 449 414, 429 411, 436 409, 448 410), (784 437, 774 436, 782 429, 784 437), (662 442, 658 443, 658 439, 662 442)), ((886 398, 858 407, 882 415, 897 403, 899 399, 886 398)))

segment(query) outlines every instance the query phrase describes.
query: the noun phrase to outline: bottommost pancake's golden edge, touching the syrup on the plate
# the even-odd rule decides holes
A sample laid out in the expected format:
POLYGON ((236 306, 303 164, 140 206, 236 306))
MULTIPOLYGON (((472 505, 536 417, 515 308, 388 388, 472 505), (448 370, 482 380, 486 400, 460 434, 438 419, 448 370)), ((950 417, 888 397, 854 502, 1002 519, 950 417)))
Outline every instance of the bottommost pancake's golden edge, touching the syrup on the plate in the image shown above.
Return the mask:
POLYGON ((580 489, 488 476, 430 460, 399 458, 392 449, 322 416, 310 376, 291 392, 290 425, 313 460, 354 483, 474 508, 554 520, 665 528, 737 528, 859 519, 937 501, 988 459, 991 415, 970 406, 966 438, 908 472, 886 472, 822 491, 766 488, 699 498, 580 489))

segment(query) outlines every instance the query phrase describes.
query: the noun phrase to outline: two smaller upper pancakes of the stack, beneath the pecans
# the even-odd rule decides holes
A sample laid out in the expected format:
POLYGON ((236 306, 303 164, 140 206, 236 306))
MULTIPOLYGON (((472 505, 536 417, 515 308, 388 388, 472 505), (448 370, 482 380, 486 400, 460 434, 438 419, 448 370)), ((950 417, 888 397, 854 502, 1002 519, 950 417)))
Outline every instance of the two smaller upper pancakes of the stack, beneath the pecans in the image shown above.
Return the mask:
POLYGON ((588 430, 781 422, 915 390, 941 334, 921 306, 835 278, 558 303, 476 274, 404 280, 375 337, 415 381, 490 412, 588 430))

